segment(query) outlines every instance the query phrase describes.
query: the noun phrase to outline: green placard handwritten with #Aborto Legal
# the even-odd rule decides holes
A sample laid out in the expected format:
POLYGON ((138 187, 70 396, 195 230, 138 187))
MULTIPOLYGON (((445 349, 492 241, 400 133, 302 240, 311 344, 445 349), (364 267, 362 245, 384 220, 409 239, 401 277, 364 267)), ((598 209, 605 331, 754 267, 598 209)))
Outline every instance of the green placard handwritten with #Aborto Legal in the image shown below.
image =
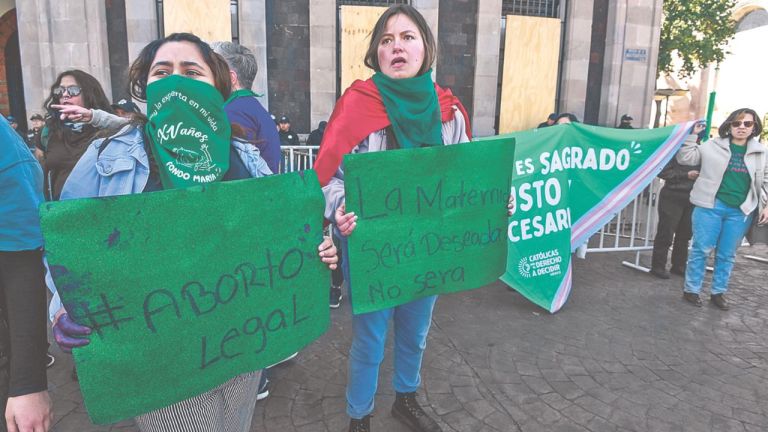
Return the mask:
POLYGON ((47 203, 48 262, 94 423, 111 423, 274 364, 329 323, 314 171, 47 203))

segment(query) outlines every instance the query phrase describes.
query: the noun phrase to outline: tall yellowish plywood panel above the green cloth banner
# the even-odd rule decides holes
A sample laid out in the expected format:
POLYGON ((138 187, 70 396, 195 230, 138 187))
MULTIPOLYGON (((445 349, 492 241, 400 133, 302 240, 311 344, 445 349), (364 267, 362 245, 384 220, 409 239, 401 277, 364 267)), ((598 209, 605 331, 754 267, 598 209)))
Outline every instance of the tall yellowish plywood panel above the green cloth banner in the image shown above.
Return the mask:
POLYGON ((560 20, 507 16, 499 133, 536 127, 555 110, 560 20))

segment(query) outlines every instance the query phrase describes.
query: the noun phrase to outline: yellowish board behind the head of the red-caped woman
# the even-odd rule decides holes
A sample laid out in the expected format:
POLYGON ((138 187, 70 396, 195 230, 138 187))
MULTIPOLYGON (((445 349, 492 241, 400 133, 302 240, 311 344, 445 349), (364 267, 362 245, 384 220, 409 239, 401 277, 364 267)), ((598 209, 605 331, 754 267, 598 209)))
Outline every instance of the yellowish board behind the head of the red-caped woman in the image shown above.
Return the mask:
POLYGON ((368 79, 373 70, 363 63, 370 43, 370 34, 385 7, 341 7, 341 90, 356 79, 368 79))

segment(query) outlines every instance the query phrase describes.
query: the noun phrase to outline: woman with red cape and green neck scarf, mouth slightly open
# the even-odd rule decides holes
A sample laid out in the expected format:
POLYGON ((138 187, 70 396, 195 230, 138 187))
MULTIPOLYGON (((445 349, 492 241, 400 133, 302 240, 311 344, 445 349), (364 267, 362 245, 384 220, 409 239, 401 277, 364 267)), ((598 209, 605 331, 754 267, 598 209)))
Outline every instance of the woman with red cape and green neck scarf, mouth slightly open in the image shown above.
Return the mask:
MULTIPOLYGON (((354 82, 334 108, 314 168, 324 185, 325 216, 341 234, 343 256, 348 256, 346 237, 354 231, 357 219, 344 208, 344 154, 469 141, 463 106, 450 91, 432 81, 435 51, 434 36, 416 9, 390 7, 373 28, 365 56, 365 64, 375 71, 373 78, 354 82)), ((348 262, 342 267, 349 281, 348 262)), ((441 430, 416 400, 435 300, 435 296, 426 297, 352 317, 347 383, 350 431, 370 430, 390 319, 395 332, 392 415, 413 431, 441 430)))

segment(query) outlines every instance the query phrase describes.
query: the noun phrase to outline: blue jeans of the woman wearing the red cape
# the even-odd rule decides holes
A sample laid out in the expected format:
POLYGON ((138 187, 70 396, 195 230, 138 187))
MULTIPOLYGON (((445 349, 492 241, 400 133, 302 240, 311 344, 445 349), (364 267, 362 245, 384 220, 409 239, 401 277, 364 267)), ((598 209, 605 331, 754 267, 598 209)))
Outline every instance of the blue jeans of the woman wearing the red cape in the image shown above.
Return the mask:
MULTIPOLYGON (((344 278, 349 286, 347 239, 339 236, 344 278)), ((427 346, 432 310, 437 296, 385 309, 352 316, 352 347, 349 350, 347 376, 347 414, 354 419, 373 412, 373 399, 379 382, 379 366, 384 360, 389 320, 394 321, 395 359, 392 386, 396 392, 415 392, 421 384, 421 359, 427 346)))

